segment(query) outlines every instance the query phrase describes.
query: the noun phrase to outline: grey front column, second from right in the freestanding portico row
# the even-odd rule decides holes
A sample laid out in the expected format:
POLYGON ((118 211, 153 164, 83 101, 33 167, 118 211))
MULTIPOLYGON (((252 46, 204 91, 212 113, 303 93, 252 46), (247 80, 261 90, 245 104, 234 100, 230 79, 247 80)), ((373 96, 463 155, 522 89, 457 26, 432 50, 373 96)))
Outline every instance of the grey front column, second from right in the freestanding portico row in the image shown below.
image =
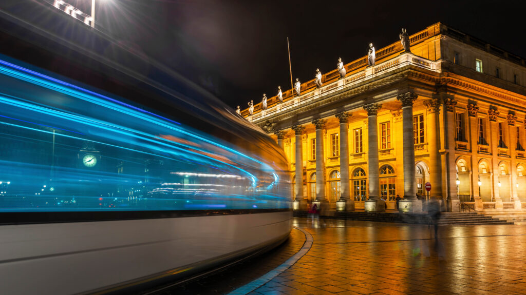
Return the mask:
POLYGON ((378 180, 379 164, 378 164, 378 110, 381 104, 370 103, 363 106, 367 111, 368 122, 368 141, 367 149, 368 165, 369 165, 369 199, 365 201, 365 210, 367 212, 383 212, 386 210, 385 202, 380 199, 380 184, 378 180))

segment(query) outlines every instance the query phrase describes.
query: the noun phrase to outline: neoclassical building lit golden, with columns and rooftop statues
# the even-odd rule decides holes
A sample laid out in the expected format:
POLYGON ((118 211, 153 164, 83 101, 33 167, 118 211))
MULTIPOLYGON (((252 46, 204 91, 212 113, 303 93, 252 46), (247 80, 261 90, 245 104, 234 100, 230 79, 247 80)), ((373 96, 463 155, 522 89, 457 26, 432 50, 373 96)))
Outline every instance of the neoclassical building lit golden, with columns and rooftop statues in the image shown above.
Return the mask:
POLYGON ((526 211, 524 59, 441 23, 408 37, 241 111, 284 148, 299 206, 419 212, 429 182, 448 211, 526 211))

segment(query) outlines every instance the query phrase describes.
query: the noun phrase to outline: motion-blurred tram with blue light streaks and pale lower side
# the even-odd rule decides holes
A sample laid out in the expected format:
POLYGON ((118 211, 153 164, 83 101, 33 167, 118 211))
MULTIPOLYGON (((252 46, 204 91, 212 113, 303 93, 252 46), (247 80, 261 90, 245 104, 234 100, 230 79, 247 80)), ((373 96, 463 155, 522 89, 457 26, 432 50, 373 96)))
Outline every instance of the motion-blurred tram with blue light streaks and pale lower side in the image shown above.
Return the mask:
POLYGON ((0 16, 1 293, 127 292, 288 237, 264 132, 69 16, 0 16))

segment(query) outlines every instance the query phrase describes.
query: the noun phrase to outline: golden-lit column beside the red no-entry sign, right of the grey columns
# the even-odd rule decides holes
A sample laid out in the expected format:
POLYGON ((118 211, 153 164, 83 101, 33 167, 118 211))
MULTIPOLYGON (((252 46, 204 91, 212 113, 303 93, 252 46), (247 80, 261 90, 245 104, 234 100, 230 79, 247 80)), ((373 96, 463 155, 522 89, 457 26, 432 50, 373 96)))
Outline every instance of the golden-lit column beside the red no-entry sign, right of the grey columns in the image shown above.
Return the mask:
MULTIPOLYGON (((437 128, 440 115, 440 100, 433 98, 424 102, 428 110, 427 135, 429 149, 429 182, 431 183, 430 197, 442 202, 442 165, 440 150, 440 132, 437 128)), ((414 141, 413 141, 414 142, 414 141)), ((442 207, 442 203, 440 204, 442 207)))

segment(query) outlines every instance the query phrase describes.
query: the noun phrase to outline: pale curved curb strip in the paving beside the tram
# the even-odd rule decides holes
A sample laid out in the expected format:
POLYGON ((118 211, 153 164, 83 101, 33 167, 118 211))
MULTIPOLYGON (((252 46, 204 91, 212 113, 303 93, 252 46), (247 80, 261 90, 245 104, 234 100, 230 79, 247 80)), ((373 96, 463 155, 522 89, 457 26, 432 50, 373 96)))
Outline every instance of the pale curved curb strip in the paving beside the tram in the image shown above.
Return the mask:
POLYGON ((295 255, 287 259, 287 261, 283 262, 275 269, 272 269, 271 271, 265 273, 265 275, 262 275, 261 277, 247 283, 246 285, 237 288, 236 290, 228 293, 228 295, 245 295, 256 290, 257 288, 265 285, 270 280, 274 279, 276 276, 280 275, 280 273, 287 270, 289 267, 294 265, 301 257, 307 254, 307 252, 310 250, 310 247, 312 247, 312 235, 302 228, 296 226, 293 227, 300 230, 305 235, 305 243, 303 244, 303 247, 301 247, 301 249, 298 252, 296 252, 295 255))

